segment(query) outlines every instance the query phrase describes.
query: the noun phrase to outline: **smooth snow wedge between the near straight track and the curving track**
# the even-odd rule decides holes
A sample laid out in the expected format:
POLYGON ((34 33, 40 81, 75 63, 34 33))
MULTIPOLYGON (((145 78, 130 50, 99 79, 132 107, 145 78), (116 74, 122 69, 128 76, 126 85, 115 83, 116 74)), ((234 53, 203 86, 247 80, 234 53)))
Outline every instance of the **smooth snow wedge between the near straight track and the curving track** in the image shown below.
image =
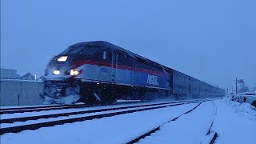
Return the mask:
POLYGON ((190 110, 198 103, 181 106, 168 106, 161 109, 146 110, 137 113, 115 115, 113 117, 93 119, 86 122, 74 122, 62 126, 25 130, 18 134, 4 134, 3 143, 125 143, 139 134, 152 130, 167 119, 190 110))

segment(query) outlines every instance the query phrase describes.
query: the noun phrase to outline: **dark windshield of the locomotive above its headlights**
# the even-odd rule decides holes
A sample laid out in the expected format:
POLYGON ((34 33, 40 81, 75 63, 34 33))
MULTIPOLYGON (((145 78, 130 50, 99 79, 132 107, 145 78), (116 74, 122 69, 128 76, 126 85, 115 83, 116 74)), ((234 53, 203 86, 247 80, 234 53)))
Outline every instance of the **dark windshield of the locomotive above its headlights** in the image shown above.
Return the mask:
POLYGON ((86 55, 94 55, 98 51, 98 47, 93 46, 70 46, 66 50, 64 50, 60 55, 67 55, 67 54, 86 54, 86 55))

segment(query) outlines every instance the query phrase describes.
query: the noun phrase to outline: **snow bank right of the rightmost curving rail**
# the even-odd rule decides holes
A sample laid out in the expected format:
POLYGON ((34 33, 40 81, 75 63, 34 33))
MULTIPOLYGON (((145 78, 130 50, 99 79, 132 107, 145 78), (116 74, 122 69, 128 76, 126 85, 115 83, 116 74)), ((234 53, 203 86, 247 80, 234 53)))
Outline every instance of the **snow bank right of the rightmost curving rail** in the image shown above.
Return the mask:
POLYGON ((248 103, 215 101, 217 115, 212 130, 218 133, 216 144, 255 143, 256 109, 248 103))

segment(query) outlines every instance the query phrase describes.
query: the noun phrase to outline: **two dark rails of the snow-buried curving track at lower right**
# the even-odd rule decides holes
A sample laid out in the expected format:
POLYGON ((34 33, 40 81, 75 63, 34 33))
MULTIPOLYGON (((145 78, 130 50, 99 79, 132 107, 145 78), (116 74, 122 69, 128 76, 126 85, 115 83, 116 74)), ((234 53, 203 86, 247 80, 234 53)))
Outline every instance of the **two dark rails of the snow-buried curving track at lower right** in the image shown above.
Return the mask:
MULTIPOLYGON (((145 141, 145 143, 150 142, 150 137, 153 137, 153 138, 156 137, 157 133, 158 133, 158 135, 161 135, 160 134, 161 133, 161 128, 163 126, 166 126, 166 124, 168 124, 170 122, 174 122, 174 121, 178 120, 178 118, 181 118, 182 116, 191 113, 192 111, 196 110, 201 104, 202 104, 202 102, 200 102, 197 106, 194 106, 193 109, 188 110, 185 113, 178 115, 178 117, 176 117, 176 118, 170 119, 168 122, 162 123, 160 126, 155 127, 154 129, 146 132, 145 134, 141 134, 138 137, 130 140, 130 142, 126 142, 126 143, 128 143, 128 144, 133 144, 133 143, 137 143, 137 142, 142 142, 143 143, 143 140, 145 138, 149 138, 147 141, 145 141)), ((214 102, 213 102, 213 104, 214 104, 214 102)), ((217 114, 217 107, 215 106, 215 104, 214 104, 214 114, 217 114)), ((217 138, 218 135, 217 135, 216 132, 211 131, 211 127, 213 126, 213 123, 214 123, 214 120, 212 119, 212 121, 210 123, 210 126, 206 130, 207 131, 206 137, 200 142, 200 144, 212 144, 212 143, 214 143, 214 141, 215 141, 215 139, 217 138)), ((171 127, 170 127, 170 129, 171 129, 171 127)), ((164 134, 164 132, 163 132, 163 134, 164 134)), ((158 138, 158 139, 161 139, 161 137, 158 138)), ((159 143, 161 143, 161 142, 159 142, 159 143)))

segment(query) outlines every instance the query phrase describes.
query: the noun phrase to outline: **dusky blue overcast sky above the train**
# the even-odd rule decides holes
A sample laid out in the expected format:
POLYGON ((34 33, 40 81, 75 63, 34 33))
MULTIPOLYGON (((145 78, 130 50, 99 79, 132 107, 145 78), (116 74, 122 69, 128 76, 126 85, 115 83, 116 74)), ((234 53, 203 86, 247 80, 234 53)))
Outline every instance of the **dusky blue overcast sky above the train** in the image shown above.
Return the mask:
POLYGON ((43 74, 104 40, 222 88, 256 83, 255 0, 1 0, 1 67, 43 74))

